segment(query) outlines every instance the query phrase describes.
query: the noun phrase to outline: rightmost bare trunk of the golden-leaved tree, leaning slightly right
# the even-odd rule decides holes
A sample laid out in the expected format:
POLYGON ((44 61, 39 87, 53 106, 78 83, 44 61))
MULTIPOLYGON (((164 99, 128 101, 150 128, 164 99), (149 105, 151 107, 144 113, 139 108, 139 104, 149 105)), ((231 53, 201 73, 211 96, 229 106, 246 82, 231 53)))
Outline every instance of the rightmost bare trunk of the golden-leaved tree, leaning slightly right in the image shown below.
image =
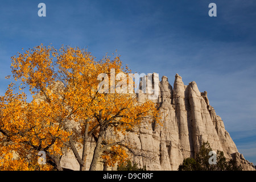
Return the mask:
POLYGON ((105 135, 106 129, 105 126, 100 126, 100 133, 98 134, 98 140, 96 143, 96 147, 94 148, 94 152, 93 152, 93 159, 92 159, 92 163, 90 164, 90 171, 96 171, 96 166, 97 166, 97 162, 98 162, 98 158, 100 158, 100 152, 101 152, 101 142, 102 139, 105 135))

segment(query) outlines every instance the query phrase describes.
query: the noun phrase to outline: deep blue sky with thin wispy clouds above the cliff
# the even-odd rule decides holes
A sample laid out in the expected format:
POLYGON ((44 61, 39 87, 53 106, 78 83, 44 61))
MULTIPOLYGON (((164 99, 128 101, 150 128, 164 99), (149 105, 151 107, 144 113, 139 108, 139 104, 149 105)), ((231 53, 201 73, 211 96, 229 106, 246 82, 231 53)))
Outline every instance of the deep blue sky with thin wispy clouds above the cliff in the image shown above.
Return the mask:
POLYGON ((256 164, 256 2, 0 1, 0 94, 10 57, 43 43, 121 55, 133 72, 196 81, 247 160, 256 164), (46 17, 38 4, 46 4, 46 17), (209 17, 209 3, 217 17, 209 17))

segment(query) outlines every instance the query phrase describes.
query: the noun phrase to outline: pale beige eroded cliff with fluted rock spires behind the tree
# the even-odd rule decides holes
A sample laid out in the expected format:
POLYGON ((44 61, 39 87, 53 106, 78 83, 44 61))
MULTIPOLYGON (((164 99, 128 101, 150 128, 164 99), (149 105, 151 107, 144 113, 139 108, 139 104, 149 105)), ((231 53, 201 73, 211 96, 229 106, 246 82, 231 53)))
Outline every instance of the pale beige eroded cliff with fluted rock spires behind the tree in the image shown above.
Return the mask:
MULTIPOLYGON (((139 102, 147 98, 147 94, 138 94, 139 102)), ((254 170, 253 164, 238 152, 223 121, 209 105, 207 92, 201 93, 196 82, 184 85, 181 76, 176 74, 172 88, 168 78, 163 76, 159 96, 154 102, 160 104, 163 126, 145 122, 124 136, 133 147, 135 155, 131 156, 139 166, 146 166, 147 170, 177 170, 183 159, 194 157, 201 144, 208 141, 214 151, 224 151, 227 159, 234 159, 245 170, 254 170)), ((93 155, 92 148, 89 150, 88 163, 93 155)), ((65 168, 79 169, 72 152, 67 152, 61 163, 65 168)), ((104 167, 99 161, 97 169, 116 167, 104 167)))

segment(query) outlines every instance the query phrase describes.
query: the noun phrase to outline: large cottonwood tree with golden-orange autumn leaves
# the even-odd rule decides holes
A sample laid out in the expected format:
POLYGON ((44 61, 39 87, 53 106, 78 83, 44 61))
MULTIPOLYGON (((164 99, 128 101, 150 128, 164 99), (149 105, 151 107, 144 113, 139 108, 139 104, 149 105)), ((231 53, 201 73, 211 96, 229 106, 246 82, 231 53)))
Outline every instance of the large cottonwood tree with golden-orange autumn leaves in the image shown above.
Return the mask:
MULTIPOLYGON (((57 50, 41 45, 11 60, 15 82, 1 96, 0 169, 62 170, 61 156, 71 148, 80 170, 85 170, 87 142, 92 140, 95 144, 89 170, 96 170, 100 158, 113 166, 129 159, 128 147, 118 137, 106 138, 107 131, 118 136, 144 121, 160 123, 153 102, 138 103, 135 94, 98 92, 101 73, 110 75, 113 69, 125 75, 131 72, 123 68, 119 56, 96 61, 85 49, 57 50), (26 88, 34 98, 31 102, 27 102, 26 88), (39 151, 46 152, 46 165, 38 165, 39 151)), ((133 80, 111 81, 110 89, 123 89, 133 80)))

